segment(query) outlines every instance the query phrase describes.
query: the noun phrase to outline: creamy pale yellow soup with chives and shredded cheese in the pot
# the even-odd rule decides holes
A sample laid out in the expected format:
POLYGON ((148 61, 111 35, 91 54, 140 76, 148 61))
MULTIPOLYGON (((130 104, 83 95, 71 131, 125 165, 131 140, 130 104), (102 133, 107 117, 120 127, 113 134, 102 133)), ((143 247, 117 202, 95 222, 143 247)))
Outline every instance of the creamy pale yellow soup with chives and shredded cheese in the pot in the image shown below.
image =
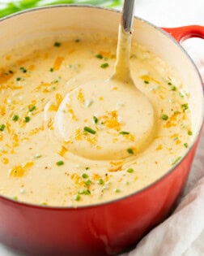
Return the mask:
POLYGON ((107 202, 144 188, 180 161, 192 138, 181 79, 134 43, 131 73, 152 106, 146 107, 134 88, 107 82, 116 48, 117 38, 78 33, 2 56, 2 195, 48 206, 107 202))

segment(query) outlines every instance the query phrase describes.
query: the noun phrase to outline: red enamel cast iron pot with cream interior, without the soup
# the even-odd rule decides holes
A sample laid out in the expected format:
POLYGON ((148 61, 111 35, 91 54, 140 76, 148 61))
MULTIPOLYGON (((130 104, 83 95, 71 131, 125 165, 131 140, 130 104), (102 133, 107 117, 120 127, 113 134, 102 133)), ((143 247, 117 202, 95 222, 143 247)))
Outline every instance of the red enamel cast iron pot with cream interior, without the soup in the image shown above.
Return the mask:
MULTIPOLYGON (((0 21, 0 54, 20 41, 74 29, 91 29, 92 33, 111 33, 117 37, 120 20, 119 12, 96 7, 55 6, 24 11, 0 21)), ((204 37, 204 28, 168 28, 168 33, 164 30, 135 18, 133 40, 175 67, 190 93, 193 145, 187 154, 153 184, 113 202, 79 208, 50 207, 0 196, 0 242, 25 255, 119 254, 135 245, 173 210, 198 145, 204 102, 198 70, 176 40, 204 37)))

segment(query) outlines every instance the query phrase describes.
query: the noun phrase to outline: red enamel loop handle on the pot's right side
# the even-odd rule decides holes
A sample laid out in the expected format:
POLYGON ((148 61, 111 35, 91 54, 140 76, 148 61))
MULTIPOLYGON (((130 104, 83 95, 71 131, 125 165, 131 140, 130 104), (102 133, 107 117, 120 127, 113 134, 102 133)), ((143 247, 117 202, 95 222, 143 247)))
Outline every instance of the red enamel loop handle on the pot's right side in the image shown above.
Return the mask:
MULTIPOLYGON (((162 28, 169 33, 179 43, 190 37, 200 37, 204 39, 204 27, 198 25, 184 26, 178 28, 162 28)), ((204 81, 202 83, 204 87, 204 81)))

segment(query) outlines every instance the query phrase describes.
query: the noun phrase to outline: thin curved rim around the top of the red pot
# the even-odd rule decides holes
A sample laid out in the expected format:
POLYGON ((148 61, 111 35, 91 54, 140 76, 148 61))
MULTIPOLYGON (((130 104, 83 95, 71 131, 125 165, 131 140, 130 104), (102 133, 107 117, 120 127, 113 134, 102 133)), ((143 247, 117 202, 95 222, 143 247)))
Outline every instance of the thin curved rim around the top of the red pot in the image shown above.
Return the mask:
MULTIPOLYGON (((92 9, 97 9, 97 10, 111 11, 113 13, 118 13, 118 14, 121 13, 121 11, 119 11, 119 10, 116 10, 113 8, 108 8, 108 7, 98 7, 98 6, 83 5, 83 4, 56 4, 56 5, 50 5, 50 6, 45 6, 45 7, 34 7, 34 8, 24 10, 24 11, 15 12, 14 14, 7 15, 6 17, 1 18, 0 23, 2 23, 5 20, 11 19, 15 16, 24 15, 24 14, 32 12, 32 11, 40 11, 40 10, 45 10, 45 9, 61 8, 61 7, 62 8, 63 7, 83 7, 83 8, 92 8, 92 9)), ((194 70, 194 72, 196 72, 198 74, 198 77, 200 80, 200 85, 202 86, 202 77, 198 71, 198 67, 196 67, 195 63, 193 62, 193 59, 191 59, 191 57, 186 52, 186 50, 179 44, 178 41, 176 41, 176 39, 174 37, 172 37, 169 33, 165 32, 164 29, 157 27, 155 24, 151 24, 151 22, 149 22, 147 20, 143 20, 142 18, 135 16, 135 15, 134 15, 134 19, 140 20, 140 21, 150 25, 152 28, 155 28, 160 33, 163 33, 165 37, 168 37, 169 40, 171 40, 174 44, 176 44, 176 46, 179 47, 181 51, 183 51, 183 53, 189 59, 190 63, 193 65, 193 70, 194 70)), ((110 200, 107 202, 96 202, 94 204, 87 205, 87 206, 44 206, 44 205, 37 205, 34 203, 30 203, 30 202, 16 201, 15 199, 12 199, 11 197, 6 197, 1 194, 0 194, 0 199, 4 199, 8 202, 13 202, 15 204, 27 206, 30 208, 39 208, 41 210, 43 210, 43 209, 46 209, 46 210, 84 210, 84 209, 91 209, 94 207, 107 206, 109 204, 121 202, 121 201, 127 199, 128 197, 133 197, 133 196, 136 196, 137 194, 144 193, 145 191, 147 191, 148 189, 151 189, 151 187, 155 186, 156 184, 159 184, 162 180, 164 180, 166 177, 171 175, 173 171, 176 171, 176 167, 178 167, 185 160, 185 158, 187 157, 189 152, 193 149, 193 146, 195 145, 195 143, 197 141, 199 141, 199 137, 202 132, 203 125, 204 125, 204 108, 202 108, 202 122, 198 129, 198 133, 193 138, 193 142, 191 143, 191 145, 190 145, 189 149, 186 151, 186 153, 181 157, 181 159, 172 168, 170 168, 167 172, 165 172, 163 176, 159 176, 159 178, 157 180, 151 182, 151 184, 148 184, 147 186, 143 187, 142 189, 139 189, 139 190, 137 190, 133 193, 130 193, 128 195, 125 195, 123 197, 119 197, 119 198, 116 198, 116 199, 113 199, 113 200, 110 200)))

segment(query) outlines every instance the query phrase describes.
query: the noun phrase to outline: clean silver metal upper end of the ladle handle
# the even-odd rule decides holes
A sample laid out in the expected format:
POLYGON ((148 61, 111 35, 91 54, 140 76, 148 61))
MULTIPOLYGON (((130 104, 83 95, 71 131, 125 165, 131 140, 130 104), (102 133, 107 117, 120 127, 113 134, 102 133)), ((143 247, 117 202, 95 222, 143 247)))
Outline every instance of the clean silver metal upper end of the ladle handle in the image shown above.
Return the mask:
POLYGON ((132 32, 135 2, 135 0, 124 0, 121 17, 121 27, 123 28, 125 33, 132 32))

